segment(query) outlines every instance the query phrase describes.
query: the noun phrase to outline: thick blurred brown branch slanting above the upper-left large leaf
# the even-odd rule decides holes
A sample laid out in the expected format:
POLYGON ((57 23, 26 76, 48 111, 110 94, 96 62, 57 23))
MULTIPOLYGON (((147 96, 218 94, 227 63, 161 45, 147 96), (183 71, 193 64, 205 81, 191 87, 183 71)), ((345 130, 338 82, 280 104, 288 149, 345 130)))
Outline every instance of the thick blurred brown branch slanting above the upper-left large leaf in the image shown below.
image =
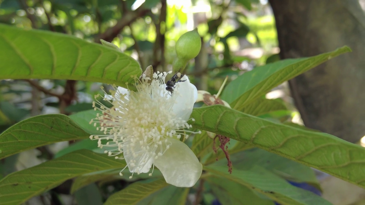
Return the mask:
POLYGON ((107 30, 105 30, 105 32, 98 35, 95 38, 95 42, 100 43, 100 39, 106 40, 107 42, 111 42, 120 33, 120 31, 123 30, 124 27, 130 25, 136 19, 138 19, 141 16, 144 16, 149 11, 150 11, 149 9, 145 9, 141 6, 137 8, 135 11, 127 11, 123 13, 122 18, 118 20, 115 26, 108 28, 107 30))

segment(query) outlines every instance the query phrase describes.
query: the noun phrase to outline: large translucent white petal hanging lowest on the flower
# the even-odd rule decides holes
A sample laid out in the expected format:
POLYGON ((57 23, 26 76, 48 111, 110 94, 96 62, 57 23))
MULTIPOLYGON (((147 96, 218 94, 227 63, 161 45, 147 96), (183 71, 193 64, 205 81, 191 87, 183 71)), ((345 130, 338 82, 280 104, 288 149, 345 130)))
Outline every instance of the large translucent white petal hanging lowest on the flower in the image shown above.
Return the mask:
POLYGON ((154 160, 167 183, 177 187, 192 187, 199 180, 203 166, 191 149, 179 140, 168 138, 172 144, 154 160))

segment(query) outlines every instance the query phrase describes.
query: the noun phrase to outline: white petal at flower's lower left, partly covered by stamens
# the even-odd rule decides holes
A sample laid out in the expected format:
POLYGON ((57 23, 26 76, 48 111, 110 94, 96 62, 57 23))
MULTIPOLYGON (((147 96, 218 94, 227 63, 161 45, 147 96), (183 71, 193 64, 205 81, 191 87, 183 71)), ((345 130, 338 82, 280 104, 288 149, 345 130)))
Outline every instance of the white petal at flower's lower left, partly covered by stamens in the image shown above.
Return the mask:
POLYGON ((123 144, 123 155, 129 171, 131 173, 148 173, 153 164, 153 157, 146 155, 148 152, 142 151, 138 143, 133 146, 133 150, 130 147, 130 144, 123 144), (135 166, 132 166, 132 163, 135 166))

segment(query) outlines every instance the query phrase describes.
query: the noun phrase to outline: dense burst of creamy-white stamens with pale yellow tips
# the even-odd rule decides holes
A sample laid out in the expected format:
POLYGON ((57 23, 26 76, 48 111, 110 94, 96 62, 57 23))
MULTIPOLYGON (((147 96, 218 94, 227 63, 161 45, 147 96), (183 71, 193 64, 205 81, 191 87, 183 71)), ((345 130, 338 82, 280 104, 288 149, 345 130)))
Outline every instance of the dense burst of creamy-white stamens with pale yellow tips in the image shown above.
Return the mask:
POLYGON ((192 132, 183 130, 191 125, 172 112, 180 93, 176 90, 170 96, 164 85, 166 75, 165 72, 154 73, 150 84, 149 78, 142 78, 142 82, 136 85, 138 92, 122 93, 114 86, 111 97, 104 97, 112 108, 97 100, 93 103, 94 109, 102 114, 91 123, 95 127, 100 123, 97 129, 104 135, 92 135, 90 139, 97 139, 98 147, 105 148, 104 152, 109 156, 126 159, 132 173, 148 172, 153 160, 169 149, 168 138, 187 138, 187 133, 192 132), (121 153, 124 157, 120 157, 121 153))

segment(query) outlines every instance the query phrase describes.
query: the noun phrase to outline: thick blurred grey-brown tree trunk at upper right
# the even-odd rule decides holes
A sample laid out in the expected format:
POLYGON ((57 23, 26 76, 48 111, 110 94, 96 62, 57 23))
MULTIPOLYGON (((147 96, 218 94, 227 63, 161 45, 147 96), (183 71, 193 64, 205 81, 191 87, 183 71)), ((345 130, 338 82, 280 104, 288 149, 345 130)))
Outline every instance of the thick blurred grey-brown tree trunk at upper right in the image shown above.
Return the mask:
POLYGON ((281 58, 353 52, 289 81, 307 127, 358 142, 365 135, 365 14, 357 0, 269 0, 281 58))

